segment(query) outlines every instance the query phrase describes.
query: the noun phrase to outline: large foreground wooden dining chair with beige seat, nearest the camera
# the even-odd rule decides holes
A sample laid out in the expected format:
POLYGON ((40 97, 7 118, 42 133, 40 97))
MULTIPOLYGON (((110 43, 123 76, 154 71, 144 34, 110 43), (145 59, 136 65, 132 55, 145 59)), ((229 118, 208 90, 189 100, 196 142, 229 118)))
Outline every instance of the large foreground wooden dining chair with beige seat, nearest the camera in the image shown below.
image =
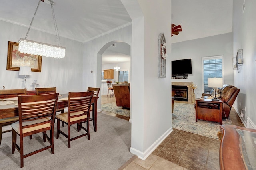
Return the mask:
MULTIPOLYGON (((57 107, 59 93, 44 95, 21 95, 18 96, 19 121, 12 123, 12 154, 15 148, 20 152, 20 167, 24 166, 24 158, 34 155, 38 152, 51 148, 54 154, 54 117, 57 107), (46 131, 50 130, 50 137, 46 131), (43 142, 46 139, 49 146, 30 152, 24 155, 24 140, 26 136, 42 132, 43 142), (20 136, 20 146, 17 144, 17 134, 20 136)), ((28 143, 30 144, 30 143, 28 143)))

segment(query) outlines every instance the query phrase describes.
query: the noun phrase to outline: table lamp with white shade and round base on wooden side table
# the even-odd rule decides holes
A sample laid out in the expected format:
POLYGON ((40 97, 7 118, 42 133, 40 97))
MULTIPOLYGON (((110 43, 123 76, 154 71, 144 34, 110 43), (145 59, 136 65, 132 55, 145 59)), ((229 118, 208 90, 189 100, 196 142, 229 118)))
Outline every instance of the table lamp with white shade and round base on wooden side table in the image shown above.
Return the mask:
POLYGON ((222 78, 208 78, 208 87, 213 87, 210 91, 210 96, 213 97, 212 101, 219 101, 219 97, 221 95, 220 87, 223 87, 223 79, 222 78))

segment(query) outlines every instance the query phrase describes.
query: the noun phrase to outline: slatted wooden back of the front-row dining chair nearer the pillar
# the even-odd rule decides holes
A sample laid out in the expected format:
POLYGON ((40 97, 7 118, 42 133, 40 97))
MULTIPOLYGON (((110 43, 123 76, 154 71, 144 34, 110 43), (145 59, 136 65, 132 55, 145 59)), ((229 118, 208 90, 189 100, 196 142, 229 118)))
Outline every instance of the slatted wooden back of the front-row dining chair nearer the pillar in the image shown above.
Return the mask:
POLYGON ((68 93, 68 121, 83 115, 90 116, 90 107, 94 91, 68 93), (75 113, 70 115, 70 113, 75 113))

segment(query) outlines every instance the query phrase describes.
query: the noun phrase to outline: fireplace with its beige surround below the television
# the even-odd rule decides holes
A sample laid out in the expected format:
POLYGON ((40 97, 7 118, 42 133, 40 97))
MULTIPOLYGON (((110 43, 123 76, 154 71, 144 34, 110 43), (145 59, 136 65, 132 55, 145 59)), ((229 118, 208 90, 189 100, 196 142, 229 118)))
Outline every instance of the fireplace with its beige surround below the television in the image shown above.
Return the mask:
POLYGON ((188 88, 193 82, 172 82, 174 100, 192 104, 192 89, 188 88))

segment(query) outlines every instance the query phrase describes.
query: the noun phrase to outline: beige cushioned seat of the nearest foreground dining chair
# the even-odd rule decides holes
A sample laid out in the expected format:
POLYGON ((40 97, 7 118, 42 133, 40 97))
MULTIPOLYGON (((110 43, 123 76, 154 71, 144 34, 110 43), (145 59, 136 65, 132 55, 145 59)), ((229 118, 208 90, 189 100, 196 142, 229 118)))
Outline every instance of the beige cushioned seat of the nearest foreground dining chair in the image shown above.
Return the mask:
MULTIPOLYGON (((41 123, 41 122, 44 122, 44 121, 48 121, 50 119, 48 118, 43 118, 43 119, 38 119, 38 120, 34 120, 34 121, 26 121, 26 122, 23 122, 23 126, 26 126, 26 125, 32 125, 32 124, 35 124, 35 123, 41 123)), ((19 121, 18 122, 15 122, 15 123, 12 123, 11 127, 18 133, 20 134, 20 123, 19 121)), ((29 127, 29 128, 24 128, 23 129, 23 133, 28 133, 28 132, 32 132, 34 130, 38 130, 38 129, 42 129, 42 128, 47 128, 47 127, 51 127, 51 123, 46 123, 46 124, 43 124, 43 125, 38 125, 38 126, 35 126, 35 127, 29 127)))

